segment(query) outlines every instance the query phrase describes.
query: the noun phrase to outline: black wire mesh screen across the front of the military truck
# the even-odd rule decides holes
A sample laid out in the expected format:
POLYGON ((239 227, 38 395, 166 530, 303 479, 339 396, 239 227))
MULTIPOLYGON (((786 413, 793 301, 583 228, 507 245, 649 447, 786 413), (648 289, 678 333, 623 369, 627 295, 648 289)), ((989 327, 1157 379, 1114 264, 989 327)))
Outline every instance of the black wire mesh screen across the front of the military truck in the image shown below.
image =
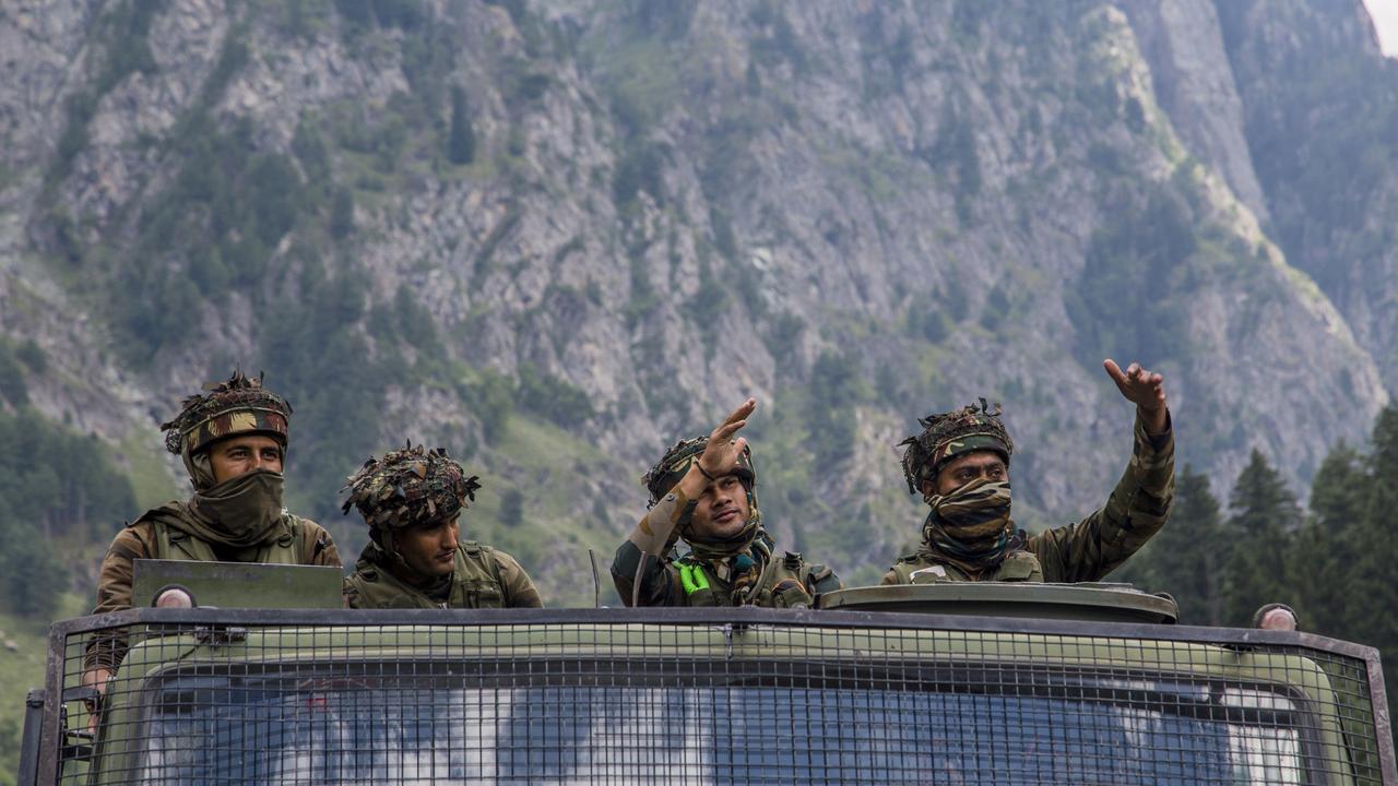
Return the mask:
POLYGON ((124 649, 55 720, 64 783, 1380 783, 1391 757, 1364 659, 1172 627, 127 614, 56 635, 67 688, 124 649))

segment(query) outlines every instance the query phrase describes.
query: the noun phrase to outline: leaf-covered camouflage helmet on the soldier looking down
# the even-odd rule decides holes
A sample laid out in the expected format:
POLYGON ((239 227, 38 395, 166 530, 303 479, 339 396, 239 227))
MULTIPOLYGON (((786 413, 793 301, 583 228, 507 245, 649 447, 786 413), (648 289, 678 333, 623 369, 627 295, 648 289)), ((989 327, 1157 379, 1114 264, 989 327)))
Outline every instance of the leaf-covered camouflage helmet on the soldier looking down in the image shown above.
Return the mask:
POLYGON ((411 442, 370 457, 350 476, 343 513, 358 508, 370 531, 386 531, 452 519, 475 502, 477 476, 467 477, 446 449, 432 450, 411 442))

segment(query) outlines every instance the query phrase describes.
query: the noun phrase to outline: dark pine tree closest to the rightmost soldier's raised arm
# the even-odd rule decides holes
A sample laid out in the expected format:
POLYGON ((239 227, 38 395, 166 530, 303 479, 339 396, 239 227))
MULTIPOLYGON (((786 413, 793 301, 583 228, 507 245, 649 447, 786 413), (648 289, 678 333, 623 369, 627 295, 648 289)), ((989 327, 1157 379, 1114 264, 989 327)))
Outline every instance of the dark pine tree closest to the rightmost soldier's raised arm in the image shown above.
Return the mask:
POLYGON ((1142 561, 1149 589, 1173 594, 1187 625, 1223 624, 1226 541, 1219 508, 1209 476, 1186 466, 1176 477, 1170 520, 1142 561))

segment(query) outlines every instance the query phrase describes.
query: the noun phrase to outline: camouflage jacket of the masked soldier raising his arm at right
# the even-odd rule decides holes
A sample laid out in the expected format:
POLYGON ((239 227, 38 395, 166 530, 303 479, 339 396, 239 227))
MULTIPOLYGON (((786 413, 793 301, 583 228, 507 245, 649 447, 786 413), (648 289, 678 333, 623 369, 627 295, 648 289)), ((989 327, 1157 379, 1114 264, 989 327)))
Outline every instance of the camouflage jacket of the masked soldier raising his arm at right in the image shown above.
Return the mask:
POLYGON ((1107 503, 1081 522, 1026 536, 991 572, 972 575, 927 554, 899 558, 885 585, 931 582, 1096 582, 1160 531, 1174 499, 1174 429, 1148 436, 1137 417, 1135 448, 1107 503))

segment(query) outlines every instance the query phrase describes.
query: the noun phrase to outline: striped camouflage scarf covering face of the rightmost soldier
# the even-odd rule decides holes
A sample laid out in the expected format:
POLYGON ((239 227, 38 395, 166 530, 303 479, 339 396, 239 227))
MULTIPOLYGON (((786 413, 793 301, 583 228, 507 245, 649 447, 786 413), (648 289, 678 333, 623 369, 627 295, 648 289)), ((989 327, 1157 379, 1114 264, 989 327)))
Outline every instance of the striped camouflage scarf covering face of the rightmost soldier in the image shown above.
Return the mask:
POLYGON ((994 568, 1023 545, 1009 520, 1009 483, 977 478, 946 495, 927 498, 920 554, 967 573, 994 568))

